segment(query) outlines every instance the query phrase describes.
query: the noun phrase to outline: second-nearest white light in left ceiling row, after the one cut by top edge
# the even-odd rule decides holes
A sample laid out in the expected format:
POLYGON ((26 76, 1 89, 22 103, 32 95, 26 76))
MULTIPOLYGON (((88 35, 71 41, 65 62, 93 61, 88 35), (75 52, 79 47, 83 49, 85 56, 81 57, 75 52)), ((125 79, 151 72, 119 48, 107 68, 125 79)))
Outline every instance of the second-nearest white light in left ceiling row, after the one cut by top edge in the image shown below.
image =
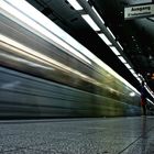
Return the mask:
POLYGON ((84 14, 81 16, 95 31, 100 31, 98 25, 94 22, 94 20, 88 14, 84 14))

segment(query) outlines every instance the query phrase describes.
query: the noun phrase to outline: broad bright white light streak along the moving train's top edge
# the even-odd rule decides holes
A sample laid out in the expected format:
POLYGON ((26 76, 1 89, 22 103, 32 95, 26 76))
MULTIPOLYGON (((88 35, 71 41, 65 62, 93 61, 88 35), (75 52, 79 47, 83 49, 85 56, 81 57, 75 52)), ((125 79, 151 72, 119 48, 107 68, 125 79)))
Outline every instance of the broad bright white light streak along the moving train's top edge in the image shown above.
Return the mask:
POLYGON ((108 65, 106 65, 98 57, 91 54, 90 51, 81 46, 70 35, 64 32, 61 28, 58 28, 55 23, 53 23, 50 19, 43 15, 40 11, 37 11, 26 1, 2 0, 0 7, 1 12, 6 13, 6 15, 11 18, 19 24, 23 25, 30 31, 35 32, 42 38, 50 41, 66 53, 76 55, 80 61, 82 59, 82 62, 86 62, 88 65, 94 65, 92 63, 96 63, 97 65, 106 69, 108 73, 113 75, 117 79, 120 79, 123 84, 125 84, 125 86, 140 94, 130 82, 128 82, 124 78, 118 75, 108 65), (68 42, 66 43, 66 41, 68 42), (74 46, 72 46, 73 44, 74 46))

